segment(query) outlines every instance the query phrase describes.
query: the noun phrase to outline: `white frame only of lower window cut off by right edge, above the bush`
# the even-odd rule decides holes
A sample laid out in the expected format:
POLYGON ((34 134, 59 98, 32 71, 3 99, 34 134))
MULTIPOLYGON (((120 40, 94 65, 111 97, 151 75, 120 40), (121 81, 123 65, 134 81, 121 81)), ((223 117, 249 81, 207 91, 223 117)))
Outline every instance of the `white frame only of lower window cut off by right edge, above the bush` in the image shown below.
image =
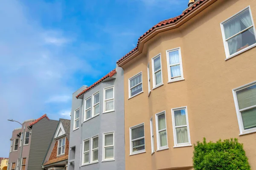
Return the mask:
POLYGON ((242 86, 232 90, 233 91, 234 102, 235 102, 235 107, 236 107, 236 115, 237 115, 237 119, 238 119, 239 130, 240 130, 240 134, 239 135, 245 135, 245 134, 248 134, 248 133, 256 132, 256 127, 244 130, 243 119, 242 119, 242 116, 241 116, 241 111, 246 111, 248 109, 256 108, 256 105, 253 105, 253 106, 250 106, 250 107, 244 108, 244 109, 239 109, 239 105, 238 105, 238 101, 237 101, 237 96, 236 96, 236 92, 237 91, 240 91, 240 90, 242 90, 244 88, 248 88, 248 87, 250 87, 252 85, 256 85, 256 81, 250 82, 250 83, 248 83, 246 85, 242 85, 242 86))

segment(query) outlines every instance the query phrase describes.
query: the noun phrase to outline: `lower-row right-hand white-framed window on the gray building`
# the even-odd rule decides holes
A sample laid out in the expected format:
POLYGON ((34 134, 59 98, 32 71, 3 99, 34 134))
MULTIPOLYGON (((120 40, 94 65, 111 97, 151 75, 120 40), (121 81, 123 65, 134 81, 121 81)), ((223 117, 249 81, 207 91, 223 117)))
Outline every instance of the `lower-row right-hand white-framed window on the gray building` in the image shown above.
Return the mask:
POLYGON ((114 132, 103 133, 102 160, 114 160, 114 132))

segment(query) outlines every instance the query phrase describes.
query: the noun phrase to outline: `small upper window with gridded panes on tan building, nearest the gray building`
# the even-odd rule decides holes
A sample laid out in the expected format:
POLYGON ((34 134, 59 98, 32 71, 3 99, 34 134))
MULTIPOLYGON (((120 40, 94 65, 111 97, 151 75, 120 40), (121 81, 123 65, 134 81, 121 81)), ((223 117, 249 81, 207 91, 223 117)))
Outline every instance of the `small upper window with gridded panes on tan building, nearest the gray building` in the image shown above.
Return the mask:
POLYGON ((129 97, 142 92, 142 72, 129 79, 129 97))

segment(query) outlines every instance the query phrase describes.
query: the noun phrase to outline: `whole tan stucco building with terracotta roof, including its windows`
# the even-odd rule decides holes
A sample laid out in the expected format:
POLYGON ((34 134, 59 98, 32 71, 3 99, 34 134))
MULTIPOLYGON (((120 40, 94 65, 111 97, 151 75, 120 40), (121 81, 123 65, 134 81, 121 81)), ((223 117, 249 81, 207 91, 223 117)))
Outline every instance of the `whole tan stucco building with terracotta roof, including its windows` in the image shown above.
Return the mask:
POLYGON ((117 62, 126 170, 192 170, 192 145, 203 137, 238 138, 256 169, 256 1, 190 5, 117 62))

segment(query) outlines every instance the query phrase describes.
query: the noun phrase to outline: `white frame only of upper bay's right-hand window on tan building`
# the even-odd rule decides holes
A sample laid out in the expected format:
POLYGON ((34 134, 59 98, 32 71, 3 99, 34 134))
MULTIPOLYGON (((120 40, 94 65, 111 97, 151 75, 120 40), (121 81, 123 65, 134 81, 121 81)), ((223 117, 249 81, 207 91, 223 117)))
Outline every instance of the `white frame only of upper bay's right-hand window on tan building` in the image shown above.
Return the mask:
POLYGON ((177 81, 183 80, 184 77, 183 77, 183 66, 182 66, 182 57, 181 57, 181 50, 180 50, 180 47, 178 47, 178 48, 173 48, 173 49, 170 49, 170 50, 166 50, 166 59, 167 59, 167 69, 168 69, 168 83, 169 83, 169 82, 177 82, 177 81), (171 77, 172 74, 171 74, 170 67, 171 67, 171 66, 174 66, 174 65, 178 65, 177 63, 170 65, 169 53, 170 53, 170 52, 173 52, 173 51, 179 51, 180 76, 178 76, 178 77, 171 77), (172 78, 173 78, 173 79, 172 79, 172 78))

